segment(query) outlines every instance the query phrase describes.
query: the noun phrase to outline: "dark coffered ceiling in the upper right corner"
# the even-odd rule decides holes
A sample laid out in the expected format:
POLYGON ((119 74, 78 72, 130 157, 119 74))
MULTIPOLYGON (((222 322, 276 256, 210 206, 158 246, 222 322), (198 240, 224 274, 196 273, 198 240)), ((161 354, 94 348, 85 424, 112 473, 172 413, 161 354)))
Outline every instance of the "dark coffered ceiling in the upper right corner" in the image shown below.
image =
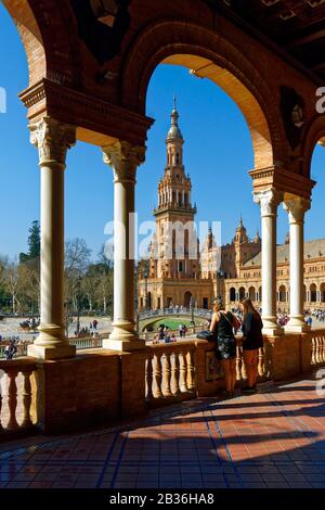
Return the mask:
POLYGON ((325 0, 206 0, 325 79, 325 0))

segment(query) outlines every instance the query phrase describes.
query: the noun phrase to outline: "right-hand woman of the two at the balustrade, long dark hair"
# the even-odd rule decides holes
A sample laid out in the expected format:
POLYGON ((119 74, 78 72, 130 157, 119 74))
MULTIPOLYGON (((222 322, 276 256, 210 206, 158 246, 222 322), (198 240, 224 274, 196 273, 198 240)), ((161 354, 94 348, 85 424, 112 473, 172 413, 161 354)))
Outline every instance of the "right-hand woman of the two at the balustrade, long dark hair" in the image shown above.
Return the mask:
POLYGON ((263 322, 250 299, 242 303, 243 308, 243 357, 247 373, 244 392, 255 393, 258 378, 258 349, 263 346, 263 322))

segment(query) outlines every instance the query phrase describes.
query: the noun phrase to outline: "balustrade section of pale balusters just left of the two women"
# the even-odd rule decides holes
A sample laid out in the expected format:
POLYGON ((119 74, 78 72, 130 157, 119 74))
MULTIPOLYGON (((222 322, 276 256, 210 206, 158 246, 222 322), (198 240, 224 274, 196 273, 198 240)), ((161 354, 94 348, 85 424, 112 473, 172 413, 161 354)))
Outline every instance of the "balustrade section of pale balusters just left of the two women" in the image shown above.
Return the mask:
POLYGON ((195 393, 194 343, 153 345, 146 358, 145 399, 187 399, 195 393))

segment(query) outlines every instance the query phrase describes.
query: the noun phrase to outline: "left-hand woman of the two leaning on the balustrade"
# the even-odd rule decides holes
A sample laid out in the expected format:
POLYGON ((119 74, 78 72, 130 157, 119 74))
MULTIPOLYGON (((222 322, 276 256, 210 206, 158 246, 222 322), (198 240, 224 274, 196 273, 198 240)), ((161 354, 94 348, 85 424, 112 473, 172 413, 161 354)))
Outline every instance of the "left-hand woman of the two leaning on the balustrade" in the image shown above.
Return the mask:
POLYGON ((213 316, 211 320, 210 331, 217 334, 217 356, 221 360, 225 390, 227 396, 234 396, 236 384, 236 341, 234 330, 239 329, 240 323, 236 316, 224 309, 221 299, 213 302, 213 316))

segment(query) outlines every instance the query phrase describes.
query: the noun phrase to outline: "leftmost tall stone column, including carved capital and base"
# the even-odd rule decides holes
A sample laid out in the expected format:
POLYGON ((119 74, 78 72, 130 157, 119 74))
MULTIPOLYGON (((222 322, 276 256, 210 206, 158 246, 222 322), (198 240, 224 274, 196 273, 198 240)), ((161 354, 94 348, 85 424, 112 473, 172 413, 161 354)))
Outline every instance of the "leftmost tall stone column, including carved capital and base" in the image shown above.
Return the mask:
POLYGON ((65 336, 64 320, 64 170, 76 128, 44 117, 29 126, 39 152, 41 174, 40 334, 28 356, 57 359, 75 356, 65 336))

